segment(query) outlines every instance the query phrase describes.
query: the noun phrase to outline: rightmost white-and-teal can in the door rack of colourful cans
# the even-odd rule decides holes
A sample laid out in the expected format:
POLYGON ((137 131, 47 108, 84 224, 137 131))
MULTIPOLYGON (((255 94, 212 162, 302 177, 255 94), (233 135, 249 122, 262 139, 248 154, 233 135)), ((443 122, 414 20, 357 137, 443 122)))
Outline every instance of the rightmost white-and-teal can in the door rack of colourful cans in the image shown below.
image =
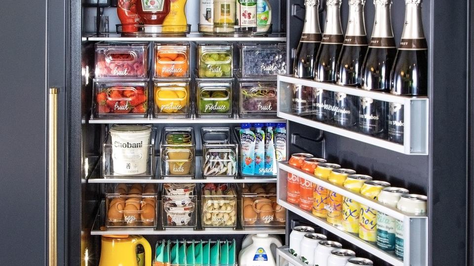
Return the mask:
MULTIPOLYGON (((400 197, 396 208, 414 215, 426 213, 428 198, 423 195, 405 194, 400 197)), ((395 255, 403 259, 403 221, 396 220, 395 226, 395 255)))

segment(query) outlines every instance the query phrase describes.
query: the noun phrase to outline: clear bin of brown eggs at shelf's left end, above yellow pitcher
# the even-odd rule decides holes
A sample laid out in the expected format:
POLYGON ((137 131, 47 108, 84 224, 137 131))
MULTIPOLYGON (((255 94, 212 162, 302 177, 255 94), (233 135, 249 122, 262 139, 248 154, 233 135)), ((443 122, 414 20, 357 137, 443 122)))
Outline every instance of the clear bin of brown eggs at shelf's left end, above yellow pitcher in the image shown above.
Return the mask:
POLYGON ((157 195, 106 194, 106 227, 156 227, 157 195))

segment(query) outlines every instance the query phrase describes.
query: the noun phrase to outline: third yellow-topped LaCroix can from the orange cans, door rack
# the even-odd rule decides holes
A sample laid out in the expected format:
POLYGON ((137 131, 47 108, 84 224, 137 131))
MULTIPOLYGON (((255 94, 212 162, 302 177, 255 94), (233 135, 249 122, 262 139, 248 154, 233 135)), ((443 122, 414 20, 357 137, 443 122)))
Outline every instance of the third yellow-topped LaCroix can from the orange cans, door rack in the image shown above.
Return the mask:
MULTIPOLYGON (((360 189, 365 181, 372 180, 372 177, 364 174, 352 174, 344 181, 344 187, 360 193, 360 189)), ((342 203, 342 229, 348 233, 359 233, 360 205, 351 198, 343 197, 342 203)))

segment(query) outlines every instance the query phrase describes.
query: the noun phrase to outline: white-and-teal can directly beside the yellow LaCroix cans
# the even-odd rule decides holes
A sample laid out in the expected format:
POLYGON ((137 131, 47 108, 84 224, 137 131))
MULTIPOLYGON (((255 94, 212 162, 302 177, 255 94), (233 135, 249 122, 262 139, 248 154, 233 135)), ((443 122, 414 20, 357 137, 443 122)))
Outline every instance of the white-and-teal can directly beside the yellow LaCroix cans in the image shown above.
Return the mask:
MULTIPOLYGON (((379 194, 379 202, 396 208, 400 197, 408 194, 404 188, 384 188, 379 194)), ((395 250, 396 219, 377 211, 377 246, 383 250, 395 250)))

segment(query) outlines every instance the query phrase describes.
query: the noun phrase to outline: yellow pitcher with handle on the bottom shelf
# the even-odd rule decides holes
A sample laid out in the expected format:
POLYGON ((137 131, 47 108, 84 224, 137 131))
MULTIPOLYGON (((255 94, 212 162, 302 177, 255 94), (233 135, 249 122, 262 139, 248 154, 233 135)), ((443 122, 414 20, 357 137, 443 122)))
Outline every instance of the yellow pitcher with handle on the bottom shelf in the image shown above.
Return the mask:
POLYGON ((138 244, 145 249, 145 266, 152 266, 152 248, 141 235, 103 235, 99 266, 138 266, 138 244))

